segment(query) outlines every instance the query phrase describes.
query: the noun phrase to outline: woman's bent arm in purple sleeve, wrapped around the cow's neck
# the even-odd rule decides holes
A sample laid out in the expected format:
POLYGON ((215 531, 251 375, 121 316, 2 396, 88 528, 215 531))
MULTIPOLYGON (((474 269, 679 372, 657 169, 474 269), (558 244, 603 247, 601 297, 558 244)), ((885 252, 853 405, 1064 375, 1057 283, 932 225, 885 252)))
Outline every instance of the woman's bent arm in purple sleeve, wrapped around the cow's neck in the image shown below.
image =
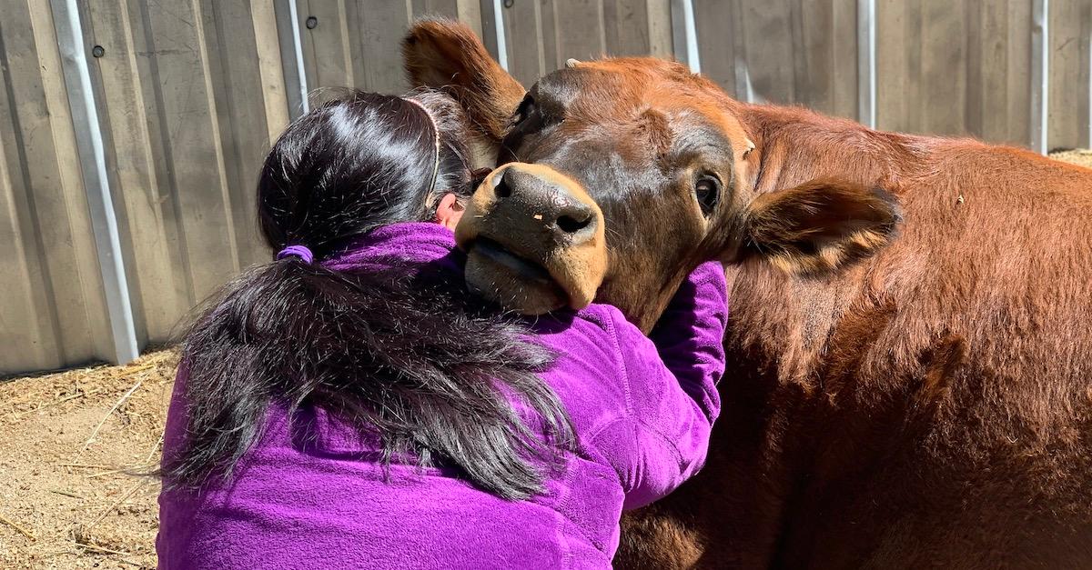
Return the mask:
POLYGON ((626 490, 626 509, 674 490, 705 462, 720 414, 727 284, 719 262, 700 265, 672 299, 651 340, 615 319, 628 382, 628 414, 592 444, 610 459, 626 490))

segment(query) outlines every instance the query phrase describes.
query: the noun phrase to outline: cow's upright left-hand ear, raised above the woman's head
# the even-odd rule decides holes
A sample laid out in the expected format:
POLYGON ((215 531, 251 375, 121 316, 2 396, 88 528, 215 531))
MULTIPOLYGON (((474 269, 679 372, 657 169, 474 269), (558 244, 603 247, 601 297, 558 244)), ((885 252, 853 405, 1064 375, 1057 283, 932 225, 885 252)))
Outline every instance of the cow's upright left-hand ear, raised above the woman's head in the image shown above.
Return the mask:
POLYGON ((442 90, 466 111, 477 134, 494 143, 503 136, 526 90, 509 75, 465 24, 420 19, 402 40, 410 85, 442 90))

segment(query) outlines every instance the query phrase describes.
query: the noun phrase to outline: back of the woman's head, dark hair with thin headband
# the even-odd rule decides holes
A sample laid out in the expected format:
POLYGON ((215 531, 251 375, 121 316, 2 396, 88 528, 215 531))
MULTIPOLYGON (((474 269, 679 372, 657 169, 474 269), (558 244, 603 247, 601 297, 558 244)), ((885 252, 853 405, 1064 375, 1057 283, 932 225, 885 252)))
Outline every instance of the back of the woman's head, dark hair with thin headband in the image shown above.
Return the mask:
POLYGON ((380 226, 458 222, 451 217, 472 190, 465 141, 458 105, 438 92, 353 91, 324 103, 293 122, 265 159, 262 235, 275 250, 302 245, 322 259, 380 226))

